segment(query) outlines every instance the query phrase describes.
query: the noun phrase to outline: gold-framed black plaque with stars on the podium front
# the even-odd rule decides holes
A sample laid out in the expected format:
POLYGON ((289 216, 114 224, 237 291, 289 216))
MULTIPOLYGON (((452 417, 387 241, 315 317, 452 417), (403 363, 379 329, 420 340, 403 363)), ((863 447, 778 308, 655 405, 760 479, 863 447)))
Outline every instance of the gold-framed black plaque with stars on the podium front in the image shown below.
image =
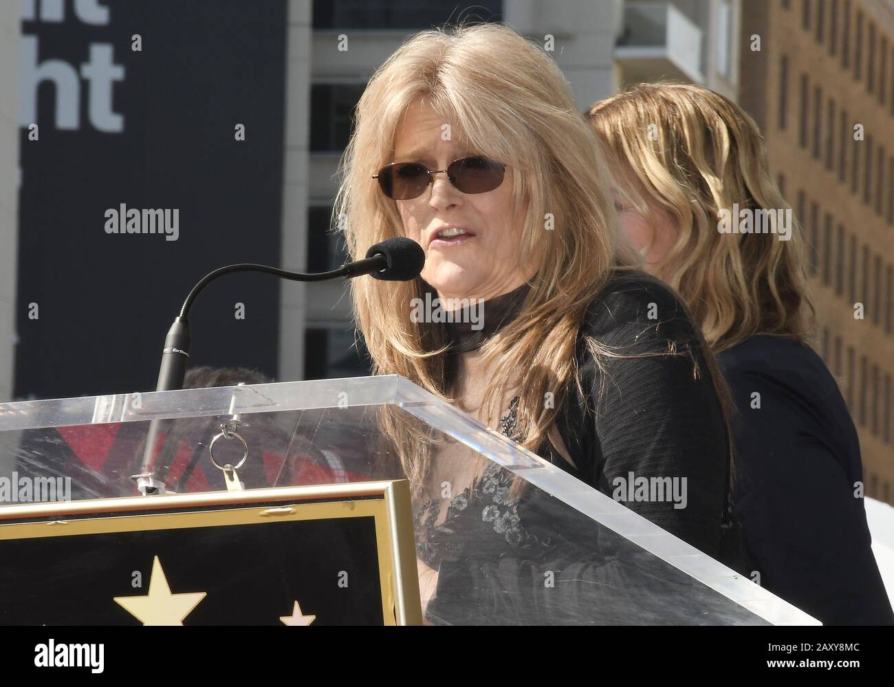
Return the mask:
POLYGON ((406 480, 0 507, 0 624, 421 624, 406 480))

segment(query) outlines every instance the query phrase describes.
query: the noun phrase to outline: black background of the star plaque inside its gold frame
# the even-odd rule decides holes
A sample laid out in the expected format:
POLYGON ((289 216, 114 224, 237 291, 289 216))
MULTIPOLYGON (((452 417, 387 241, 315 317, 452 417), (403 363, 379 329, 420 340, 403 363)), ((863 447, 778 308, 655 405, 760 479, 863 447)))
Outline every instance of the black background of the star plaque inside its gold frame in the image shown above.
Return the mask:
POLYGON ((171 594, 205 592, 186 625, 282 626, 296 602, 314 625, 384 623, 372 516, 0 539, 0 623, 139 625, 115 598, 148 595, 156 556, 171 594))

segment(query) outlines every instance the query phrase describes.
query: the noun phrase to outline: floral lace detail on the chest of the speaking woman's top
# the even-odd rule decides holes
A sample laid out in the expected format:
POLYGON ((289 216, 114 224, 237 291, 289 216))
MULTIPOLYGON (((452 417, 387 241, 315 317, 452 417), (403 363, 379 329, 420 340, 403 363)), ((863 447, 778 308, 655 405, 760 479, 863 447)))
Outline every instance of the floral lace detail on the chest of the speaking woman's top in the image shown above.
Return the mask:
MULTIPOLYGON (((500 419, 502 434, 512 439, 518 436, 518 405, 519 397, 516 396, 510 402, 509 411, 500 419)), ((417 540, 418 556, 435 568, 440 559, 459 556, 465 541, 458 531, 460 517, 492 523, 493 531, 515 547, 528 548, 538 543, 547 544, 548 542, 541 542, 522 526, 519 517, 520 499, 510 496, 512 478, 510 471, 492 462, 480 479, 452 499, 446 517, 440 524, 435 523, 441 510, 441 500, 431 499, 422 505, 413 517, 417 531, 426 532, 424 540, 417 540), (474 507, 470 507, 473 505, 474 507)))

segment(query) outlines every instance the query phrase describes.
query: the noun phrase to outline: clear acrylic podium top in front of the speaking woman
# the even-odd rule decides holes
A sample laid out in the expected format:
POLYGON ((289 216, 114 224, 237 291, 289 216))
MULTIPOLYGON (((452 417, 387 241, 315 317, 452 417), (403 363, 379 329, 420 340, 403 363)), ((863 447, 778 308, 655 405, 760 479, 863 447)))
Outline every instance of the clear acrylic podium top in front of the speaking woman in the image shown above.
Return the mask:
MULTIPOLYGON (((72 500, 138 496, 133 476, 156 420, 149 453, 165 493, 222 490, 207 449, 234 414, 248 445, 238 471, 246 489, 405 479, 383 430, 401 419, 451 446, 441 459, 451 468, 474 463, 522 480, 541 544, 529 554, 512 546, 496 506, 489 522, 435 528, 434 540, 414 516, 417 550, 441 547, 431 623, 819 624, 402 377, 0 403, 0 475, 70 478, 72 500)), ((235 444, 218 442, 217 462, 238 461, 235 444)))

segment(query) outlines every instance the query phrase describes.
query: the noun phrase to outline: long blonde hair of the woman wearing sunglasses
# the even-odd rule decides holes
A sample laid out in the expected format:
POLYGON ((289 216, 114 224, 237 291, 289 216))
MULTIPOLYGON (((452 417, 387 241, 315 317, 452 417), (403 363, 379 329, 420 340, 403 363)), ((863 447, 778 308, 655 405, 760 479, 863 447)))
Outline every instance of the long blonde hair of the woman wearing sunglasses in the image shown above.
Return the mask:
MULTIPOLYGON (((502 394, 518 389, 520 443, 536 451, 561 407, 561 391, 576 378, 575 344, 586 306, 612 268, 634 265, 638 256, 619 240, 603 156, 559 68, 515 31, 481 24, 423 31, 370 79, 342 157, 333 211, 353 259, 404 233, 395 201, 371 177, 394 161, 395 131, 417 98, 443 114, 451 135, 470 151, 510 165, 516 203, 528 202, 519 242, 523 261, 537 273, 519 316, 482 348, 485 362, 499 361, 483 410, 492 417, 502 394), (548 393, 552 404, 544 403, 548 393)), ((411 301, 425 298, 431 287, 421 278, 361 278, 350 287, 373 374, 407 377, 453 402, 443 325, 410 318, 411 301)), ((423 442, 422 434, 410 433, 408 440, 423 442)), ((415 488, 430 457, 418 449, 399 448, 415 488)))

